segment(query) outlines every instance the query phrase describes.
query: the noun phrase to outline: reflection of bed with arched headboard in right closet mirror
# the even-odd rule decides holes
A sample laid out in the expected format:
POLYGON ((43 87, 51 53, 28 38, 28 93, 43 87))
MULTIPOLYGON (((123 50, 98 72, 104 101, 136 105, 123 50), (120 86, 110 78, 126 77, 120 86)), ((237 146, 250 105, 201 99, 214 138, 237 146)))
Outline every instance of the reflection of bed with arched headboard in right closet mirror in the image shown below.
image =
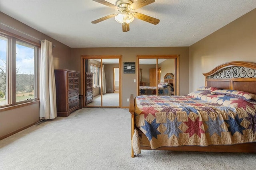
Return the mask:
POLYGON ((158 83, 158 91, 156 86, 139 86, 140 95, 164 95, 171 96, 174 94, 174 74, 167 73, 164 76, 164 82, 158 83))

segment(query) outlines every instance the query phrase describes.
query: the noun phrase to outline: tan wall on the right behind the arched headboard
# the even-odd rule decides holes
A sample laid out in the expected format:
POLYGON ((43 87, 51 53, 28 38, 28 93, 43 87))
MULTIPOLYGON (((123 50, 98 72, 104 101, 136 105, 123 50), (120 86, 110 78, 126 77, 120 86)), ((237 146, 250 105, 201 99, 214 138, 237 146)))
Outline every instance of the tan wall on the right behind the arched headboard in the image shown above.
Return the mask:
POLYGON ((230 61, 256 63, 256 9, 189 47, 189 91, 204 86, 202 73, 230 61))

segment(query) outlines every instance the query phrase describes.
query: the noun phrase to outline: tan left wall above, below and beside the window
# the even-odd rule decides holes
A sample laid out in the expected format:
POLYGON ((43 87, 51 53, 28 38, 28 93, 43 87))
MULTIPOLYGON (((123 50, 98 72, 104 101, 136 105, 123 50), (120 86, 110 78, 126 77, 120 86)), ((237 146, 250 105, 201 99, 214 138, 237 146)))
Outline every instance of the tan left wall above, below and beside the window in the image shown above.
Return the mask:
MULTIPOLYGON (((43 33, 40 33, 39 31, 36 31, 31 27, 28 27, 24 23, 21 23, 20 21, 17 21, 2 12, 0 12, 0 21, 1 23, 9 25, 10 27, 15 27, 16 29, 23 31, 25 33, 28 33, 29 35, 32 35, 33 37, 36 37, 38 39, 47 39, 51 41, 53 45, 56 45, 56 47, 53 48, 52 50, 53 57, 54 57, 53 59, 54 68, 55 69, 71 68, 70 47, 48 37, 47 35, 44 35, 43 33)), ((8 27, 2 24, 0 24, 0 29, 14 33, 16 35, 19 35, 21 37, 34 41, 35 43, 40 43, 39 40, 36 40, 22 33, 19 33, 14 29, 9 29, 8 27)), ((1 111, 0 112, 0 137, 3 137, 4 135, 8 135, 9 133, 17 131, 18 129, 22 129, 23 127, 31 125, 37 121, 39 121, 39 104, 38 103, 25 106, 25 107, 19 107, 16 109, 7 110, 7 111, 1 111)))

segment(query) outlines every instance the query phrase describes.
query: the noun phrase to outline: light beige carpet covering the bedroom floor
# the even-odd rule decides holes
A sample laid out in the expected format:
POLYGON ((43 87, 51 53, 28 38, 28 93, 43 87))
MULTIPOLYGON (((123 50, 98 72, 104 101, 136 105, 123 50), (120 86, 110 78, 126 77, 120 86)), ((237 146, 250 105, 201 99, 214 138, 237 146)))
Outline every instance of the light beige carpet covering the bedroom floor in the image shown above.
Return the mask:
MULTIPOLYGON (((17 118, 18 119, 18 118, 17 118)), ((255 170, 256 154, 142 150, 130 157, 130 113, 83 108, 0 141, 0 170, 255 170)))

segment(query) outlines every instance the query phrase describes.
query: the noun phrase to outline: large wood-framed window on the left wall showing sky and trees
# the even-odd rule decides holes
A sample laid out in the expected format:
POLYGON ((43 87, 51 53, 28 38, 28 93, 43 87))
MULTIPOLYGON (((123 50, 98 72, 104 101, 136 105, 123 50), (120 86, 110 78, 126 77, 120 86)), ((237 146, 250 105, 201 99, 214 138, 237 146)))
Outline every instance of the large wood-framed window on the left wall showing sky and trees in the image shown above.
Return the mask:
POLYGON ((0 107, 37 98, 38 46, 0 35, 0 107))

